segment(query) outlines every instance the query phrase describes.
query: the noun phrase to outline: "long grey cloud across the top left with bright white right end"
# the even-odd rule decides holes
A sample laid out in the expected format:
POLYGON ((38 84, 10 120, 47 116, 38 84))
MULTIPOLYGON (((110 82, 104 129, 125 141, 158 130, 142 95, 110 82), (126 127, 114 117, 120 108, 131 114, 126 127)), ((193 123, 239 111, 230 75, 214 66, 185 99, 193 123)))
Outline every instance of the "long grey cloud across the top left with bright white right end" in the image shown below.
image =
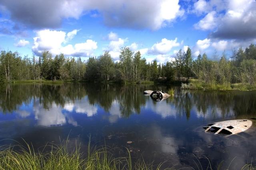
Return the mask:
POLYGON ((159 29, 184 14, 179 0, 2 0, 0 5, 12 20, 40 29, 60 27, 62 20, 79 19, 93 10, 107 26, 138 29, 159 29))

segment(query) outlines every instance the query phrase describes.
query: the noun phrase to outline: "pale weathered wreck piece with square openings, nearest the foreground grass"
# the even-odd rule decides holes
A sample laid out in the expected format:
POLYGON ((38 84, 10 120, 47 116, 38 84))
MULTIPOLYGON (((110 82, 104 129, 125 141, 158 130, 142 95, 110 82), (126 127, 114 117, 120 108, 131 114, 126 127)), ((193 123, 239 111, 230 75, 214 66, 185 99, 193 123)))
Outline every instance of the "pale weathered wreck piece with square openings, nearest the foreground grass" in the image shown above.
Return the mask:
POLYGON ((238 120, 228 120, 228 121, 219 121, 216 123, 209 124, 205 127, 204 132, 213 132, 216 134, 224 134, 227 136, 235 135, 246 131, 252 126, 252 121, 247 119, 238 119, 238 120))

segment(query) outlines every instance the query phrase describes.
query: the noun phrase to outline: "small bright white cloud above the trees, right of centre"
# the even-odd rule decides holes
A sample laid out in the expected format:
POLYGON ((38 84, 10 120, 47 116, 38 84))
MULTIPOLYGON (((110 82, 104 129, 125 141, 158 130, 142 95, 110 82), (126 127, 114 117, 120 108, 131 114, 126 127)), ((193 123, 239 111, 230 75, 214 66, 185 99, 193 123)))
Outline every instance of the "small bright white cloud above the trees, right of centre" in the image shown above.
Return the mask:
POLYGON ((178 47, 180 43, 177 42, 177 38, 174 40, 162 39, 161 42, 155 43, 148 51, 149 54, 167 54, 171 51, 172 47, 178 47))

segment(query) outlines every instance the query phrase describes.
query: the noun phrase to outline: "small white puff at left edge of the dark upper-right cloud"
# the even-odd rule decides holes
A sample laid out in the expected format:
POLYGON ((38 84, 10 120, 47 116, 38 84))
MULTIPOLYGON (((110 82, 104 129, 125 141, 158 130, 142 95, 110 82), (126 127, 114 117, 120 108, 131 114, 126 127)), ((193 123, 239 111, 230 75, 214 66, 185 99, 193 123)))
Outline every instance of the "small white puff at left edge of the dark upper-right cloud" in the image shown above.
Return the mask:
POLYGON ((202 20, 194 25, 196 29, 212 30, 216 27, 216 12, 212 11, 208 13, 202 20))

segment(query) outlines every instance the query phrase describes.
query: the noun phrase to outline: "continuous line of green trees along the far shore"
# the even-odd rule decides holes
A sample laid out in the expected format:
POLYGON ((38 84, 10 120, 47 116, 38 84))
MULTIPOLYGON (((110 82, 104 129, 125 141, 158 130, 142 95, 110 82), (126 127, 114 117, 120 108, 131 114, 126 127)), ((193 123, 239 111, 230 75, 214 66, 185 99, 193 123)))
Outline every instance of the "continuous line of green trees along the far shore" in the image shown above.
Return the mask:
POLYGON ((204 54, 192 59, 192 51, 176 54, 174 61, 158 64, 156 60, 147 63, 140 51, 134 52, 129 47, 120 49, 119 61, 114 62, 110 53, 105 51, 99 57, 65 57, 63 54, 52 56, 44 52, 36 57, 21 57, 18 52, 1 51, 0 82, 12 80, 86 80, 141 82, 174 82, 198 78, 206 83, 256 83, 256 45, 251 44, 245 50, 232 51, 231 59, 224 52, 219 60, 210 60, 204 54))

